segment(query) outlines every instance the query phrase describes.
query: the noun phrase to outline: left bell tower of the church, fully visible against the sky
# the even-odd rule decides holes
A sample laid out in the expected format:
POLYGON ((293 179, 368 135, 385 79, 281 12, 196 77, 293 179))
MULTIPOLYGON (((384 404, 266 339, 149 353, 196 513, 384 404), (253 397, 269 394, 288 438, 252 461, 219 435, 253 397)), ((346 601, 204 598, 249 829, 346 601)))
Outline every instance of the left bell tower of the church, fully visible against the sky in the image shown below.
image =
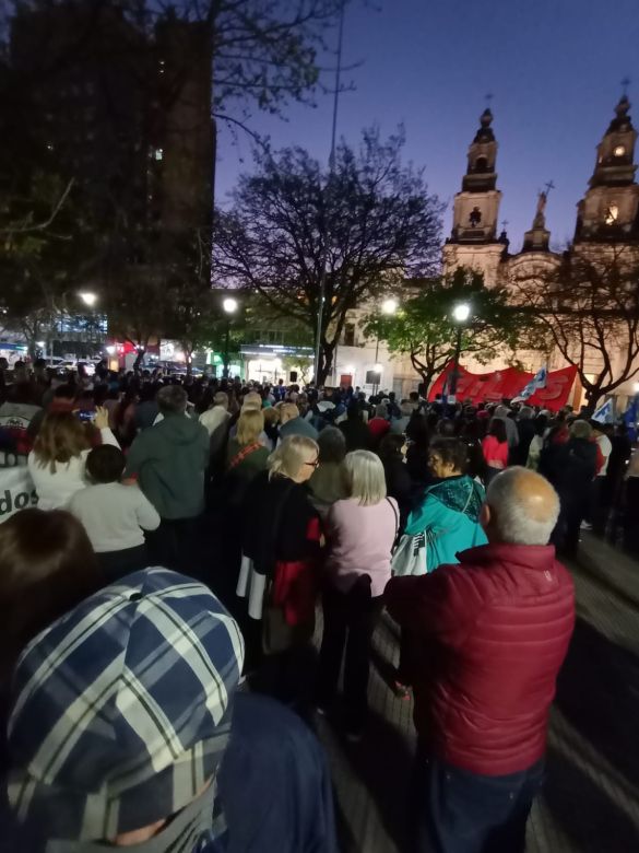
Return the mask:
POLYGON ((487 284, 495 284, 508 239, 505 233, 497 238, 501 192, 497 189, 497 141, 490 127, 490 109, 484 110, 480 122, 469 148, 462 191, 454 197, 452 232, 443 247, 443 271, 448 274, 457 267, 471 267, 484 273, 487 284))

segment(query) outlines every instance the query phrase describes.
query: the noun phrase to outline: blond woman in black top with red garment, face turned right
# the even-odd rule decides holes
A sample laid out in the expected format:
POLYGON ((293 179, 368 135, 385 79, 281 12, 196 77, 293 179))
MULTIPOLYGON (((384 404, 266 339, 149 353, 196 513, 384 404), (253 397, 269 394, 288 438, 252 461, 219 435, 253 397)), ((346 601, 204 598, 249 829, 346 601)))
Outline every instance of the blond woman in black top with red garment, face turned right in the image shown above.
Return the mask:
MULTIPOLYGON (((315 628, 320 522, 307 481, 319 464, 319 447, 304 435, 284 440, 269 456, 242 504, 242 568, 237 593, 249 597, 249 616, 262 620, 267 651, 280 652, 272 667, 272 692, 287 702, 310 699, 307 663, 297 664, 315 628), (265 591, 265 593, 264 593, 265 591), (265 600, 264 612, 262 604, 265 600), (275 635, 274 626, 277 624, 275 635)), ((250 635, 255 631, 249 632, 250 635)), ((257 653, 248 648, 249 658, 257 653)))

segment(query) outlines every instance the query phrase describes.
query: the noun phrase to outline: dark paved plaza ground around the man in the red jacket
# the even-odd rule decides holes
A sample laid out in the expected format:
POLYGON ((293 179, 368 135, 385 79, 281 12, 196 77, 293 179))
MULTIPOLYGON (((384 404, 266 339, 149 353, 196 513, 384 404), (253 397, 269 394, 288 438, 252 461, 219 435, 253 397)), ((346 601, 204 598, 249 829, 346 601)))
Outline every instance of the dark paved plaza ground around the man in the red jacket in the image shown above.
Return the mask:
MULTIPOLYGON (((639 563, 584 534, 577 627, 553 709, 547 781, 529 821, 530 853, 639 851, 639 563)), ((384 616, 375 638, 370 731, 346 744, 326 720, 343 853, 395 853, 414 746, 412 702, 388 681, 398 638, 384 616)))

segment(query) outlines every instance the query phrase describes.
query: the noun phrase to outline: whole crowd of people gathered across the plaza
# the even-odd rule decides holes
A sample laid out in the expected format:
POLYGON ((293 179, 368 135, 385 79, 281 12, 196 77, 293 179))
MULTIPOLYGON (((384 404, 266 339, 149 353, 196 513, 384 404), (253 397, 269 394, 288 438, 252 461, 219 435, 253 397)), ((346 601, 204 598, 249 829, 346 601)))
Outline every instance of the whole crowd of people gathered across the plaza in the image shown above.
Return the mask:
POLYGON ((0 374, 0 453, 38 498, 0 525, 2 820, 27 839, 9 849, 336 850, 311 728, 367 748, 386 610, 414 850, 523 850, 575 621, 556 553, 584 524, 637 548, 622 428, 106 364, 0 374))

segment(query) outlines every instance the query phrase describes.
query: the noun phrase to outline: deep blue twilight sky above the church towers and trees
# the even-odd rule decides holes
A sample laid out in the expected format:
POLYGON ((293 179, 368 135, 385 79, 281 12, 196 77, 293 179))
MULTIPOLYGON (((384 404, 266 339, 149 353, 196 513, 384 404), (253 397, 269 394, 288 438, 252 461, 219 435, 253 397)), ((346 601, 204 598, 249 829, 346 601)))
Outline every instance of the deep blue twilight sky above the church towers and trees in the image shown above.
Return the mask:
MULTIPOLYGON (((461 189, 465 155, 493 94, 499 143, 500 220, 510 250, 530 227, 537 190, 553 179, 547 206, 552 243, 575 229, 575 206, 587 189, 603 136, 631 79, 630 115, 639 129, 639 0, 352 0, 346 10, 344 63, 360 61, 341 96, 339 135, 357 143, 363 127, 406 130, 404 156, 426 167, 430 191, 448 207, 461 189)), ((333 36, 336 42, 336 32, 333 36)), ((332 98, 316 108, 292 105, 286 121, 256 115, 251 126, 274 148, 301 144, 323 161, 330 147, 332 98)), ((251 145, 221 127, 216 195, 251 168, 251 145), (242 162, 244 159, 244 162, 242 162)), ((636 161, 637 156, 636 154, 636 161)))

